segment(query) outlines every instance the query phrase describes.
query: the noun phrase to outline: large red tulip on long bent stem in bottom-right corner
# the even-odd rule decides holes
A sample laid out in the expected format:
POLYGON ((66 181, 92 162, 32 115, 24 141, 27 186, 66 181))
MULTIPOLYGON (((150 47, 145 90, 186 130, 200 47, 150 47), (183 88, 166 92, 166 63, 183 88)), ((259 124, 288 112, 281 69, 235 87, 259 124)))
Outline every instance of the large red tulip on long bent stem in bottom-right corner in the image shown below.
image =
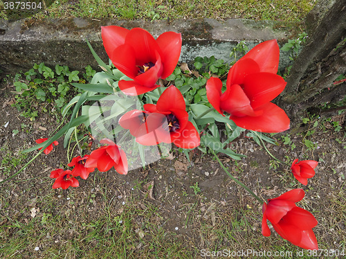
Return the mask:
POLYGON ((304 190, 294 189, 277 198, 268 199, 268 204, 264 203, 262 207, 262 235, 271 235, 266 222, 269 220, 275 231, 292 244, 304 249, 318 249, 316 236, 312 231, 317 220, 309 211, 295 205, 304 195, 304 190))

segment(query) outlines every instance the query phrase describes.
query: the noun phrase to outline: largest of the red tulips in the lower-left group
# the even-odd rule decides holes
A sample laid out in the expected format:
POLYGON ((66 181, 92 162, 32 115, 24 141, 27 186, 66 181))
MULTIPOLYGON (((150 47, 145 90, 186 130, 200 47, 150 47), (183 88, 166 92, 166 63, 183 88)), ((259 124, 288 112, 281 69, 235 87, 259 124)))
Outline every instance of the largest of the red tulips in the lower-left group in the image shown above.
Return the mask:
POLYGON ((120 150, 118 145, 110 139, 102 139, 100 143, 107 145, 93 150, 86 159, 84 167, 98 168, 100 172, 106 172, 114 167, 120 175, 126 175, 128 166, 124 150, 120 150))

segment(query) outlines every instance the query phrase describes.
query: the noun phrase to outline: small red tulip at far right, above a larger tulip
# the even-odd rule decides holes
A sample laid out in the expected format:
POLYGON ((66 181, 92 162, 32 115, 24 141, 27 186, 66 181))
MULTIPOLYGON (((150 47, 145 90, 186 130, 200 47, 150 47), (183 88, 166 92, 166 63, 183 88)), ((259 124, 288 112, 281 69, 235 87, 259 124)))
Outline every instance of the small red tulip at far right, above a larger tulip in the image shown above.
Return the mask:
POLYGON ((303 160, 298 162, 298 159, 295 159, 292 163, 291 170, 295 179, 300 181, 304 186, 307 185, 307 179, 315 175, 315 168, 318 164, 318 161, 313 160, 303 160))

